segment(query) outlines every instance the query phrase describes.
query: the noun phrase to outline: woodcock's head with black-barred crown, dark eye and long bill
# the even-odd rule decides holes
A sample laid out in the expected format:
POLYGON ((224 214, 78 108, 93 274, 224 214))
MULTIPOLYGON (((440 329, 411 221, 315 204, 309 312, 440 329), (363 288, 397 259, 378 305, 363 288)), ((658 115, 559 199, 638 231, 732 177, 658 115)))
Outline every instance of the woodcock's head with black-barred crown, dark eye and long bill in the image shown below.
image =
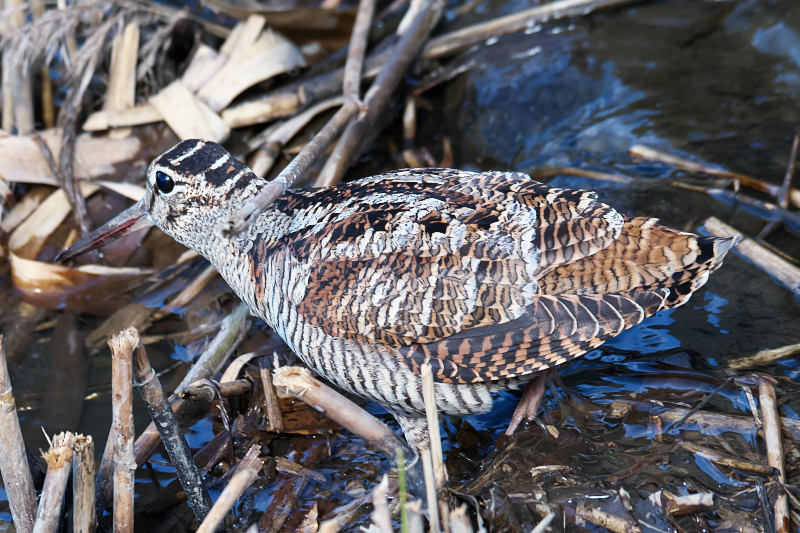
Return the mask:
POLYGON ((264 184, 217 143, 183 141, 150 163, 141 200, 61 252, 56 260, 67 261, 153 225, 203 253, 210 242, 220 238, 217 228, 221 222, 264 184))

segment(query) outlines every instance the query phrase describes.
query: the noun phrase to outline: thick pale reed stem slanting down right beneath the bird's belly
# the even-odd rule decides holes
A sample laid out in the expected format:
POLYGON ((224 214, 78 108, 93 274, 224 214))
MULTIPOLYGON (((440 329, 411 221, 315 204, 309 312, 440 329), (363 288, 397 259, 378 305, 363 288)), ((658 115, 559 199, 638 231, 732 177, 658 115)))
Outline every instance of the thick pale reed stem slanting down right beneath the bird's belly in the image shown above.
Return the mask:
POLYGON ((380 450, 391 462, 397 457, 397 449, 402 449, 409 462, 406 475, 409 488, 421 490, 423 484, 422 465, 417 454, 408 443, 397 436, 386 425, 357 406, 335 390, 311 377, 305 368, 284 366, 275 370, 275 387, 285 388, 288 394, 302 400, 311 407, 344 426, 380 450))

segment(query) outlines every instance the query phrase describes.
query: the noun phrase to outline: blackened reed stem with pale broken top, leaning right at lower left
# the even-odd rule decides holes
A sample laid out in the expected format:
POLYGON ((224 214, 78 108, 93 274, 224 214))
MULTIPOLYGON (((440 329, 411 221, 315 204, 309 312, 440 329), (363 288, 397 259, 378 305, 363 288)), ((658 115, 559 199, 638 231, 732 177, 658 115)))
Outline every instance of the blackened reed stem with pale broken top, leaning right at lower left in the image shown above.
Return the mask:
MULTIPOLYGON (((161 442, 172 461, 175 475, 186 493, 197 523, 202 523, 211 508, 211 497, 203 483, 203 476, 194 462, 186 437, 175 418, 175 413, 172 412, 172 406, 167 400, 167 395, 164 394, 161 382, 159 382, 153 367, 150 366, 144 345, 139 338, 139 332, 135 328, 130 328, 120 335, 124 335, 134 347, 133 375, 136 386, 147 404, 147 411, 158 429, 161 442)), ((131 455, 133 455, 132 446, 131 455)))

